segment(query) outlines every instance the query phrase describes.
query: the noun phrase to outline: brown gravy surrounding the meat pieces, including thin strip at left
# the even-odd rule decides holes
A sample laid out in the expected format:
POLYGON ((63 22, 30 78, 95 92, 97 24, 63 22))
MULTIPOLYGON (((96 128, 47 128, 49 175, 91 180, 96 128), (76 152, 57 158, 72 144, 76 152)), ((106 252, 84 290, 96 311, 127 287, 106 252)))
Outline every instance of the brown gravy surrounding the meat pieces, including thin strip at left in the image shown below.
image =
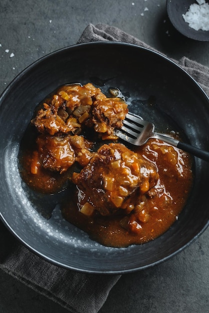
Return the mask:
MULTIPOLYGON (((167 153, 163 154, 163 149, 167 147, 169 148, 169 145, 165 145, 159 140, 149 139, 143 147, 135 150, 156 164, 160 177, 157 187, 163 190, 160 197, 148 201, 144 215, 148 213, 149 218, 146 221, 145 217, 145 221, 141 221, 142 228, 138 232, 128 231, 121 226, 123 215, 102 216, 95 213, 89 217, 81 213, 78 202, 82 202, 83 195, 77 186, 70 182, 72 170, 61 175, 42 169, 37 175, 33 175, 30 171, 33 150, 22 151, 21 162, 24 164, 22 177, 31 188, 44 193, 60 192, 62 188, 67 188, 69 192, 62 203, 63 216, 86 231, 92 239, 106 246, 115 247, 141 244, 158 237, 176 221, 186 203, 192 185, 190 158, 186 153, 171 147, 171 150, 173 149, 174 154, 177 155, 177 162, 173 161, 172 163, 167 153)), ((141 219, 143 220, 143 216, 141 219)))

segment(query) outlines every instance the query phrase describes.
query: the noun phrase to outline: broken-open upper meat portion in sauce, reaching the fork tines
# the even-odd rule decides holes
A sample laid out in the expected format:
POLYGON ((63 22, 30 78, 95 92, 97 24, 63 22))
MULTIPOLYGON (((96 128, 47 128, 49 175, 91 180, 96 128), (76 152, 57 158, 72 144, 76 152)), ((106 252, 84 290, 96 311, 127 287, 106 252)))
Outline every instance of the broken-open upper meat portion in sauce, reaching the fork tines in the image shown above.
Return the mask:
POLYGON ((116 126, 122 126, 127 111, 124 100, 106 97, 91 83, 64 85, 45 100, 32 123, 39 132, 50 135, 80 134, 84 127, 90 127, 109 136, 116 126))

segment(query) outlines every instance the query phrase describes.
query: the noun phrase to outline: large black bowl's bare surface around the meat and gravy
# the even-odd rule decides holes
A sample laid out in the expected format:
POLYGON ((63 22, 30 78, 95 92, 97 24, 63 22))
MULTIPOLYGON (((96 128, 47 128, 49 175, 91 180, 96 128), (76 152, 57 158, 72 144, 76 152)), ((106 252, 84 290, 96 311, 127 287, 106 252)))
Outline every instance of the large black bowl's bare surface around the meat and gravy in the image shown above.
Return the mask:
POLYGON ((72 82, 93 82, 104 92, 119 87, 128 97, 129 109, 154 121, 158 130, 177 129, 191 144, 209 150, 209 99, 173 61, 118 42, 63 48, 26 68, 0 98, 2 220, 27 247, 65 268, 125 273, 170 258, 208 226, 209 163, 195 159, 192 193, 172 227, 153 241, 127 248, 105 247, 89 239, 62 218, 56 205, 59 194, 40 195, 22 181, 19 146, 35 106, 57 86, 72 82), (150 96, 155 97, 155 105, 148 105, 150 96))

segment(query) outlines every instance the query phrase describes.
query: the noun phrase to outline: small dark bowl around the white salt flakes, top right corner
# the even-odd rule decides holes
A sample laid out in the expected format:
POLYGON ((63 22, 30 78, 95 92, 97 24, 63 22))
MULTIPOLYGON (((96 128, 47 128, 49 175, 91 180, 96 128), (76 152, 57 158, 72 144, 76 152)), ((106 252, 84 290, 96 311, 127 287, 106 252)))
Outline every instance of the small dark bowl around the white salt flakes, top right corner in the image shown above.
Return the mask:
POLYGON ((188 23, 183 19, 182 14, 186 13, 192 3, 197 2, 195 0, 167 0, 168 17, 173 26, 184 36, 198 41, 209 41, 209 30, 195 30, 189 27, 188 23))

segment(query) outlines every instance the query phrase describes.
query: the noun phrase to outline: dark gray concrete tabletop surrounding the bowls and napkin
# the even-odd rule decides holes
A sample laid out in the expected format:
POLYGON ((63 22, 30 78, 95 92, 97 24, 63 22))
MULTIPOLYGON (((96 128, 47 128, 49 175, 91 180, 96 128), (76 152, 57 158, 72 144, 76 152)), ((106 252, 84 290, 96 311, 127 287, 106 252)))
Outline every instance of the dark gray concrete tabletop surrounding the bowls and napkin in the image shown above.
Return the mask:
MULTIPOLYGON (((33 61, 75 44, 89 23, 117 26, 169 57, 185 55, 209 67, 209 42, 180 35, 165 5, 165 0, 1 0, 0 92, 33 61)), ((169 261, 123 275, 100 313, 209 312, 208 239, 209 229, 169 261)), ((68 310, 1 271, 0 313, 25 312, 68 310)))

